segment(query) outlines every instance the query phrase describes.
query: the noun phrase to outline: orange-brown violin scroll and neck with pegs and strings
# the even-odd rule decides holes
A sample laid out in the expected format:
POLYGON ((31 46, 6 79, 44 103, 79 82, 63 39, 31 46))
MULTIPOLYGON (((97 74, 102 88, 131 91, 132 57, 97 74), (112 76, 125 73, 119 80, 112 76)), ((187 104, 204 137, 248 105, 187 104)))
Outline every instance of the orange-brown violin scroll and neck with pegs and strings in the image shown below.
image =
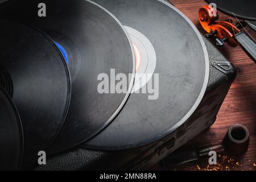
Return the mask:
POLYGON ((218 11, 212 6, 203 6, 199 10, 200 24, 207 31, 205 37, 214 37, 217 46, 223 46, 225 43, 231 47, 240 45, 256 63, 256 42, 244 28, 246 24, 239 20, 233 24, 231 19, 218 19, 218 11))

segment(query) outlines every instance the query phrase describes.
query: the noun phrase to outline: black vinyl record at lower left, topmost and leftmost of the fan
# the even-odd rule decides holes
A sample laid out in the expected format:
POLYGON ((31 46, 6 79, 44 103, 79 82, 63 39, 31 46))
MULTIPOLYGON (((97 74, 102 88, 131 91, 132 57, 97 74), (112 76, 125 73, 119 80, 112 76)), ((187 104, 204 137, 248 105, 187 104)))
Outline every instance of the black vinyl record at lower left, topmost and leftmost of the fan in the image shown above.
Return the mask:
MULTIPOLYGON (((0 71, 0 77, 2 73, 0 71)), ((2 84, 2 79, 0 80, 2 84)), ((19 169, 23 154, 23 133, 18 111, 0 86, 0 171, 19 169)))

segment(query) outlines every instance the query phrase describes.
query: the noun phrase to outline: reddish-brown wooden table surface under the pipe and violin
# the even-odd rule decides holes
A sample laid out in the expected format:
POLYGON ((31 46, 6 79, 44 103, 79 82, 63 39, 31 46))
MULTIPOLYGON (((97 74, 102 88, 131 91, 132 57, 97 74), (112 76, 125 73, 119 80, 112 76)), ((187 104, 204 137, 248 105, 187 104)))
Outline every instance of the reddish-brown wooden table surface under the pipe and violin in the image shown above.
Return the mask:
MULTIPOLYGON (((195 24, 200 32, 198 20, 200 7, 207 5, 203 0, 171 0, 195 24)), ((229 19, 228 15, 219 12, 220 19, 229 19)), ((256 34, 249 31, 254 38, 256 34)), ((237 68, 236 81, 231 86, 228 95, 217 116, 217 121, 208 130, 187 143, 183 148, 197 148, 221 142, 229 127, 240 123, 250 131, 250 146, 241 158, 218 156, 218 164, 208 167, 208 159, 183 164, 170 170, 256 170, 256 64, 240 47, 232 48, 227 45, 218 48, 237 68), (207 168, 208 167, 208 168, 207 168)), ((159 165, 155 169, 162 169, 159 165)))

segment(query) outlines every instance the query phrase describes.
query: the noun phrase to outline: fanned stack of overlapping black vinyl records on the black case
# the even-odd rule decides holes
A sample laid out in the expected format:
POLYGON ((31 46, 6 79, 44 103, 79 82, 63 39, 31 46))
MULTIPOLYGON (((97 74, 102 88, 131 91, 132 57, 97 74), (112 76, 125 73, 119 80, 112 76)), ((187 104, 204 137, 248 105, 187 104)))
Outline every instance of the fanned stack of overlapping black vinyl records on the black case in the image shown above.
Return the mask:
POLYGON ((203 38, 162 0, 10 0, 0 24, 0 169, 155 142, 207 88, 203 38))

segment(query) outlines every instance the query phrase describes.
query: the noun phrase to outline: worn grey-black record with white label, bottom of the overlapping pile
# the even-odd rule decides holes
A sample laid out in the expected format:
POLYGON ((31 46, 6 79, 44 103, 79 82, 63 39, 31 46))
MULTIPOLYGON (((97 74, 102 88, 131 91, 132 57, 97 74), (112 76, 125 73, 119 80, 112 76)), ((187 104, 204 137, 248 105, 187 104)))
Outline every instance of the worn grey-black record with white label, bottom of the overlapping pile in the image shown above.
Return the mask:
POLYGON ((121 113, 82 146, 121 150, 165 137, 187 121, 207 88, 209 58, 202 36, 165 1, 94 1, 126 27, 137 55, 137 74, 121 113))

